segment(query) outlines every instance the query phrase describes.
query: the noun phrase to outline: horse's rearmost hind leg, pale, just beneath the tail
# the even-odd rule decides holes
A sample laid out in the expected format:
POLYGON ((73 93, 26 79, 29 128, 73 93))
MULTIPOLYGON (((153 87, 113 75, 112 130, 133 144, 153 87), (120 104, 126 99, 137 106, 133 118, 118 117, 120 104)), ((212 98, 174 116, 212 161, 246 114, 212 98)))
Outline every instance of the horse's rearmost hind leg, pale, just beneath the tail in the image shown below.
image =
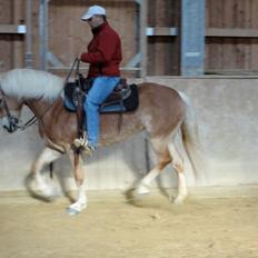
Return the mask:
POLYGON ((173 202, 182 204, 188 196, 186 177, 183 175, 183 160, 173 143, 170 143, 168 148, 172 159, 172 167, 177 171, 177 176, 178 176, 178 195, 175 198, 173 202))

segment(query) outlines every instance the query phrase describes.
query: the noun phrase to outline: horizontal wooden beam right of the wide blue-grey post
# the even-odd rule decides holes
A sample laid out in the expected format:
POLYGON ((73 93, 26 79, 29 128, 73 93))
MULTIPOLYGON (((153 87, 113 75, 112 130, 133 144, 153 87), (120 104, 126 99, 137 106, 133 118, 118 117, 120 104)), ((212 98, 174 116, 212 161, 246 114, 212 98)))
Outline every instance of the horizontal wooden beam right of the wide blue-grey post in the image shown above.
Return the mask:
POLYGON ((206 37, 258 38, 258 30, 257 29, 207 28, 206 37))

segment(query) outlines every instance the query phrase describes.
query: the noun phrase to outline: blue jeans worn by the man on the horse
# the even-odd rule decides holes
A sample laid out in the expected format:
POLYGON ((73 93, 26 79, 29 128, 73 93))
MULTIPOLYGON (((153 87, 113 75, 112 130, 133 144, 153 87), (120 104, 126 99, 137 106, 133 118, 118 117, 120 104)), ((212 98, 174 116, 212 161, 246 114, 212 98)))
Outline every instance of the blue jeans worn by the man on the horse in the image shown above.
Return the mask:
POLYGON ((99 108, 113 91, 119 77, 97 77, 85 100, 86 128, 90 146, 97 146, 99 140, 99 108))

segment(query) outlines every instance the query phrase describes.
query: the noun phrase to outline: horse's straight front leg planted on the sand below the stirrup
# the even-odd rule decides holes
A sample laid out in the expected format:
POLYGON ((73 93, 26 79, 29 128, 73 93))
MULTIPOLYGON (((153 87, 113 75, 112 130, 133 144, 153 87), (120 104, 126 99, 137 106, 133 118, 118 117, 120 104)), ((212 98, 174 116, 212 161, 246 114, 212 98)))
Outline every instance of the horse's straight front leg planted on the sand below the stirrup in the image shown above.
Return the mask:
POLYGON ((69 215, 77 215, 81 212, 88 205, 86 189, 85 189, 85 173, 82 170, 82 160, 80 155, 70 155, 71 162, 73 165, 73 173, 77 185, 77 200, 70 205, 67 209, 69 215))

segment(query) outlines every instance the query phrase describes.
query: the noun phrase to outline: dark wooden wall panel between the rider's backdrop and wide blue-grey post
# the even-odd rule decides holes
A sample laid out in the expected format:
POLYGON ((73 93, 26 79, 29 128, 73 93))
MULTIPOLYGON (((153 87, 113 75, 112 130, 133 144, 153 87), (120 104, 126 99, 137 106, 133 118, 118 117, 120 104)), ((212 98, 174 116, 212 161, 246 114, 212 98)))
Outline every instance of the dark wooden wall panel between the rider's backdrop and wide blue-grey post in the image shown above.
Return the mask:
MULTIPOLYGON (((180 27, 180 1, 149 0, 148 27, 180 27)), ((180 36, 148 38, 148 75, 179 75, 180 36)))

